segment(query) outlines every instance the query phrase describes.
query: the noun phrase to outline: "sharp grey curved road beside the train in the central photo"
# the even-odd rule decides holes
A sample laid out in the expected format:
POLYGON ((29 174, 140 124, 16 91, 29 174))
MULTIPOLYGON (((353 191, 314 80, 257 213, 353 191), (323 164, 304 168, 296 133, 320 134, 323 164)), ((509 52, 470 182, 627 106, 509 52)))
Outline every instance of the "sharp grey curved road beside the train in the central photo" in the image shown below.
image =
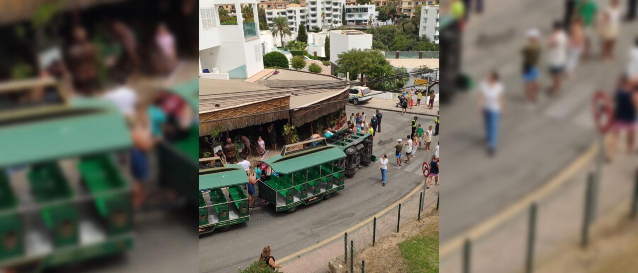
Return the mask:
MULTIPOLYGON (((373 112, 348 105, 346 112, 373 112)), ((374 154, 394 155, 397 138, 410 133, 410 118, 399 113, 382 112, 382 133, 375 136, 374 154)), ((433 124, 431 117, 422 116, 422 124, 433 124)), ((438 141, 434 137, 433 142, 438 141)), ((433 151, 420 151, 417 164, 390 167, 388 184, 381 186, 375 166, 359 170, 346 181, 346 189, 329 201, 302 207, 293 214, 274 212, 272 207, 251 210, 246 225, 237 225, 228 232, 213 232, 200 237, 199 267, 202 272, 236 272, 255 261, 264 246, 271 246, 273 256, 283 257, 346 230, 394 203, 423 182, 419 161, 433 151)), ((390 158, 392 163, 392 158, 390 158)))

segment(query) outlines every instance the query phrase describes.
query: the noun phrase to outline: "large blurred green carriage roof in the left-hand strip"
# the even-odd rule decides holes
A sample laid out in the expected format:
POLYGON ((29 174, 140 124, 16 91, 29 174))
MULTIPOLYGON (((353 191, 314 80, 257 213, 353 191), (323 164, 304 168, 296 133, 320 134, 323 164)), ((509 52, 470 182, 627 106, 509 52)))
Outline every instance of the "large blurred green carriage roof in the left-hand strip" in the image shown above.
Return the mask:
MULTIPOLYGON (((124 117, 108 101, 74 98, 68 108, 50 114, 88 110, 41 120, 18 120, 0 126, 0 167, 51 161, 131 146, 124 117)), ((7 121, 10 121, 7 120, 7 121)))

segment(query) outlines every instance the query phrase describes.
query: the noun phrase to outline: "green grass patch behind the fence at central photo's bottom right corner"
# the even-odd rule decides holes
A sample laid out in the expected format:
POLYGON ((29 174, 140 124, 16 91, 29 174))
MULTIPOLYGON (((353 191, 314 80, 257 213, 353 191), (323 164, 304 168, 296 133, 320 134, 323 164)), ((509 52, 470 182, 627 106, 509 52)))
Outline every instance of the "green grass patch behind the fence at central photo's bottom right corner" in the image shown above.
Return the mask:
POLYGON ((438 272, 438 234, 420 233, 399 243, 399 250, 410 272, 438 272))

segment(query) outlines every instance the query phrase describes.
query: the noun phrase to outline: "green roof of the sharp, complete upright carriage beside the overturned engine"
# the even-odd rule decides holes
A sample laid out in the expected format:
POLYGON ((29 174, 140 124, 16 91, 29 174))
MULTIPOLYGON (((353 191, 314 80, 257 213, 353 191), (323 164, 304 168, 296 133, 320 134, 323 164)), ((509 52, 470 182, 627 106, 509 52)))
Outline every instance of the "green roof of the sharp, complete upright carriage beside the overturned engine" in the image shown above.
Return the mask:
POLYGON ((303 170, 311 166, 320 165, 322 163, 345 158, 346 154, 335 145, 328 145, 327 149, 309 152, 302 156, 293 158, 283 158, 280 155, 273 156, 263 162, 271 166, 272 170, 277 173, 292 173, 297 170, 303 170))

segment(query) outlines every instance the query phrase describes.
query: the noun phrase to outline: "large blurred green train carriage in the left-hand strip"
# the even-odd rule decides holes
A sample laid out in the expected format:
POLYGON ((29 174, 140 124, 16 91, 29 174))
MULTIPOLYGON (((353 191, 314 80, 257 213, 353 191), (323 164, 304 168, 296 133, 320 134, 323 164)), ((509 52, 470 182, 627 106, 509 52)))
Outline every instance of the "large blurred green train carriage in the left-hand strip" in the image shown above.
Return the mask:
POLYGON ((133 246, 130 186, 114 161, 129 135, 114 105, 65 98, 52 78, 0 84, 0 267, 47 269, 133 246))

